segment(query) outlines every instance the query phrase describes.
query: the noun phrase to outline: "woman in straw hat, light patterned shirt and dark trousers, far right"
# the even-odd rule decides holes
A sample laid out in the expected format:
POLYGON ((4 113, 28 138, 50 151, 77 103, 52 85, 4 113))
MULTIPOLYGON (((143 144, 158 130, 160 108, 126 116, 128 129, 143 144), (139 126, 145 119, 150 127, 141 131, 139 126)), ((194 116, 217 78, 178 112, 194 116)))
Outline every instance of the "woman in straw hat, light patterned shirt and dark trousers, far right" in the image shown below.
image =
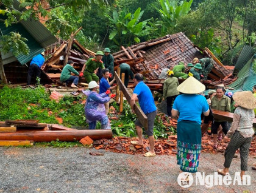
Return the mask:
POLYGON ((229 167, 233 155, 235 155, 236 150, 239 148, 241 157, 240 175, 243 180, 243 175, 247 171, 247 161, 252 135, 254 135, 252 123, 255 117, 254 109, 256 108, 256 99, 251 91, 243 91, 236 92, 233 95, 233 100, 238 104, 238 107, 235 109, 233 115, 232 126, 223 139, 224 142, 227 142, 229 138, 231 138, 225 151, 224 169, 218 169, 218 173, 222 175, 229 174, 229 167))

